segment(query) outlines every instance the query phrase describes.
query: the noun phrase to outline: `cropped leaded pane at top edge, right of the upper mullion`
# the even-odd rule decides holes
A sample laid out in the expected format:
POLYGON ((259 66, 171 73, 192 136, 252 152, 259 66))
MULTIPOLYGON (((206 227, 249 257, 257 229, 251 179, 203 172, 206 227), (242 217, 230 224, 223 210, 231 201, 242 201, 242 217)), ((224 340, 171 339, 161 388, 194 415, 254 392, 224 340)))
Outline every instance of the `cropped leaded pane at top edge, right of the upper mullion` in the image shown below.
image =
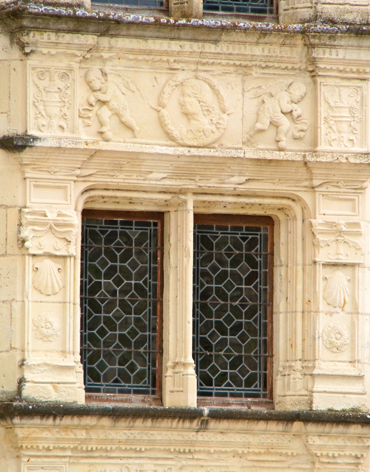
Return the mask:
POLYGON ((203 0, 204 12, 274 15, 273 0, 203 0))

